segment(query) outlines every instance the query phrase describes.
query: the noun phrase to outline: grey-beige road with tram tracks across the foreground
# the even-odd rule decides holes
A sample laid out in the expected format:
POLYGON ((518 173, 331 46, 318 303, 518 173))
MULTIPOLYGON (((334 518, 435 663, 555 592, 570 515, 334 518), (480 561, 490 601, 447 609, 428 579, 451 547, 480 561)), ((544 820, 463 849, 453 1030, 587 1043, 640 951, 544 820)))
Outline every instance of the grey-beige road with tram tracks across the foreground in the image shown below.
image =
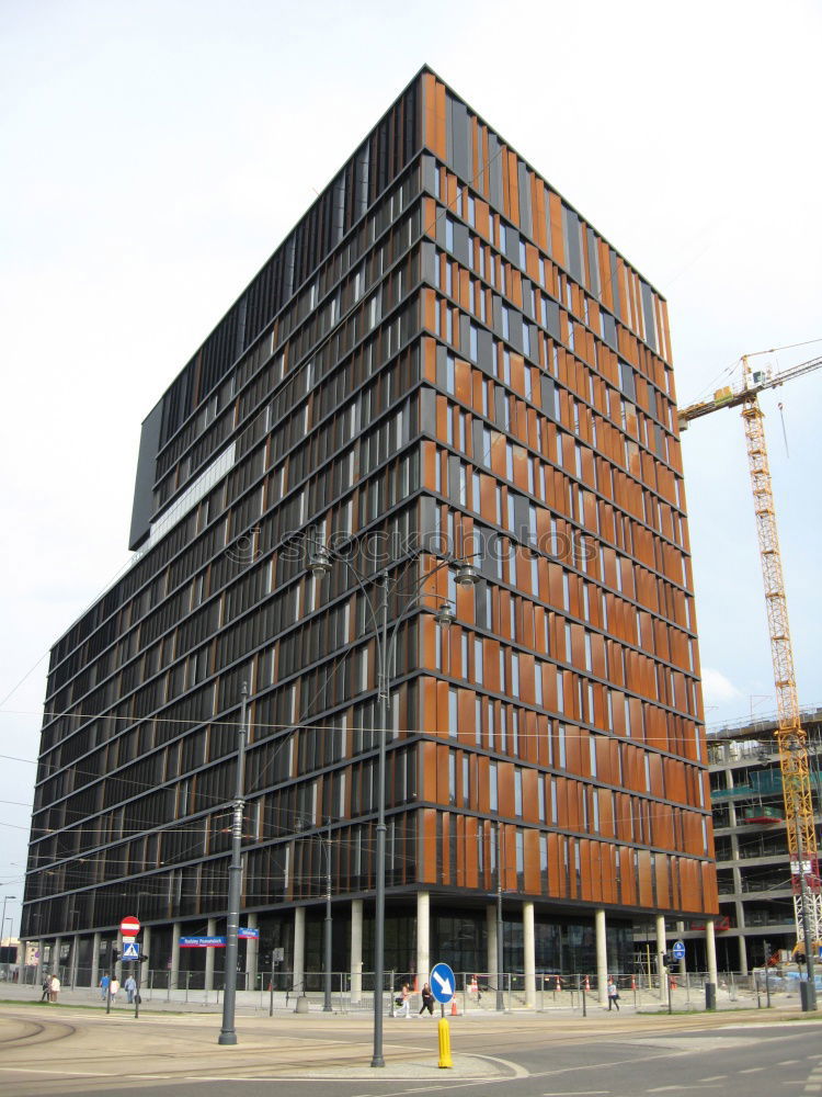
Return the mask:
POLYGON ((388 1020, 386 1067, 370 1028, 344 1017, 238 1025, 218 1048, 215 1018, 103 1019, 0 1007, 3 1097, 125 1090, 174 1097, 781 1097, 822 1094, 822 1018, 540 1016, 450 1022, 453 1070, 437 1066, 435 1019, 388 1020), (145 1024, 144 1024, 145 1020, 145 1024))

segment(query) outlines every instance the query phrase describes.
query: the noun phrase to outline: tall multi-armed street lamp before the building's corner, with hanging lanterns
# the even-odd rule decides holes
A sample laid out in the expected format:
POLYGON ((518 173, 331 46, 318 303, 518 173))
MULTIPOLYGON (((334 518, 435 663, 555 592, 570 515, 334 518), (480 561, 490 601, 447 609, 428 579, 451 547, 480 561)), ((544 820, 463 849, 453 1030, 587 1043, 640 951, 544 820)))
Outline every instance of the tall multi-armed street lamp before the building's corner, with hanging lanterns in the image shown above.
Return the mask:
MULTIPOLYGON (((421 554, 418 553, 415 558, 421 554)), ((393 629, 388 631, 388 596, 390 580, 388 572, 383 569, 375 577, 374 581, 379 588, 379 613, 374 608, 374 603, 368 595, 365 580, 351 561, 342 553, 329 548, 322 543, 311 543, 311 555, 308 567, 315 578, 321 579, 327 576, 332 567, 332 559, 338 561, 349 568, 356 581, 365 604, 368 607, 372 621, 374 623, 374 634, 377 645, 378 681, 377 694, 379 700, 379 750, 377 762, 377 849, 375 860, 375 891, 374 891, 374 1054, 372 1066, 385 1066, 386 1061, 383 1055, 383 983, 385 982, 385 915, 386 915, 386 731, 388 727, 388 702, 389 702, 389 668, 391 666, 390 656, 393 653, 397 633, 408 610, 416 601, 416 597, 424 584, 444 567, 455 567, 455 581, 460 587, 472 587, 477 581, 477 568, 469 561, 447 558, 441 561, 436 567, 426 572, 413 585, 408 598, 397 614, 393 629)), ((397 585, 393 592, 397 592, 397 585)), ((437 622, 447 627, 454 620, 450 603, 441 606, 436 613, 437 622)))

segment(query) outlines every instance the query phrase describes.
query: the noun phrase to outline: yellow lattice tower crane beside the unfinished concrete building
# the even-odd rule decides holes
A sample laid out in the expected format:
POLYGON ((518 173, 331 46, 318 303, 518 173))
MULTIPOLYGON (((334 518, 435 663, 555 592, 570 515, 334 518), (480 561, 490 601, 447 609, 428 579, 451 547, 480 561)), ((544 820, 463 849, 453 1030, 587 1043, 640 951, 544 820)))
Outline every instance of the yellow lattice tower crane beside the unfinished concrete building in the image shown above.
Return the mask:
MULTIPOLYGON (((765 353, 770 353, 766 351, 765 353)), ((779 767, 785 798, 785 822, 790 858, 794 914, 797 928, 795 953, 806 955, 806 941, 819 946, 822 941, 822 893, 820 892, 817 827, 813 815, 813 796, 808 771, 808 745, 799 719, 799 698, 794 671, 794 651, 788 626, 788 607, 779 553, 779 536, 774 509, 774 491, 768 468, 765 442, 764 415, 758 394, 776 388, 786 381, 801 377, 822 367, 822 358, 781 370, 755 371, 749 358, 742 359, 742 383, 720 388, 708 400, 682 408, 678 414, 680 430, 685 430, 693 419, 699 419, 720 408, 742 408, 742 420, 747 443, 747 462, 753 488, 756 532, 760 540, 762 575, 765 581, 770 656, 774 664, 774 683, 778 726, 776 731, 779 767)), ((812 951, 817 951, 814 948, 812 951)))

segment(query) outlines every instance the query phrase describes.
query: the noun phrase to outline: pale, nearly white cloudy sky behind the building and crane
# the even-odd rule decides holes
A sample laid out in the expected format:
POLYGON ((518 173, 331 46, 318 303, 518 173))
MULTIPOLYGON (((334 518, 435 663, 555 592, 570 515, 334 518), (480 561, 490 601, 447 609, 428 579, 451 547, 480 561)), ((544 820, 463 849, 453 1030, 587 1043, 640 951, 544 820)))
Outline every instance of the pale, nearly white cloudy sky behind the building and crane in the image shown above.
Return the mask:
MULTIPOLYGON (((46 653, 128 557, 141 420, 420 66, 667 297, 690 403, 822 337, 821 32, 810 0, 0 3, 0 753, 30 759, 0 758, 0 897, 23 894, 46 653)), ((822 371, 762 400, 804 704, 820 394, 822 371)), ((738 412, 684 455, 707 721, 770 711, 738 412)))

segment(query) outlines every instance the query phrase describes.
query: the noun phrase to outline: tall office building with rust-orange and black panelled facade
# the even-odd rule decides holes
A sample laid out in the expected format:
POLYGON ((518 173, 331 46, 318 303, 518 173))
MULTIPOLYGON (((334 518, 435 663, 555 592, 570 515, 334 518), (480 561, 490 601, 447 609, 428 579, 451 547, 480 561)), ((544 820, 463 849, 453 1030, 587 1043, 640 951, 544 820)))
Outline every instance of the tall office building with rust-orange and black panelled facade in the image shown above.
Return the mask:
POLYGON ((424 69, 144 425, 139 557, 52 653, 24 937, 93 971, 137 912, 152 968, 202 965, 248 680, 249 966, 320 969, 330 819, 333 966, 368 970, 374 623, 295 532, 369 593, 480 572, 398 631, 387 970, 495 970, 498 885, 506 970, 584 970, 597 911, 613 968, 635 918, 716 912, 665 303, 424 69))

